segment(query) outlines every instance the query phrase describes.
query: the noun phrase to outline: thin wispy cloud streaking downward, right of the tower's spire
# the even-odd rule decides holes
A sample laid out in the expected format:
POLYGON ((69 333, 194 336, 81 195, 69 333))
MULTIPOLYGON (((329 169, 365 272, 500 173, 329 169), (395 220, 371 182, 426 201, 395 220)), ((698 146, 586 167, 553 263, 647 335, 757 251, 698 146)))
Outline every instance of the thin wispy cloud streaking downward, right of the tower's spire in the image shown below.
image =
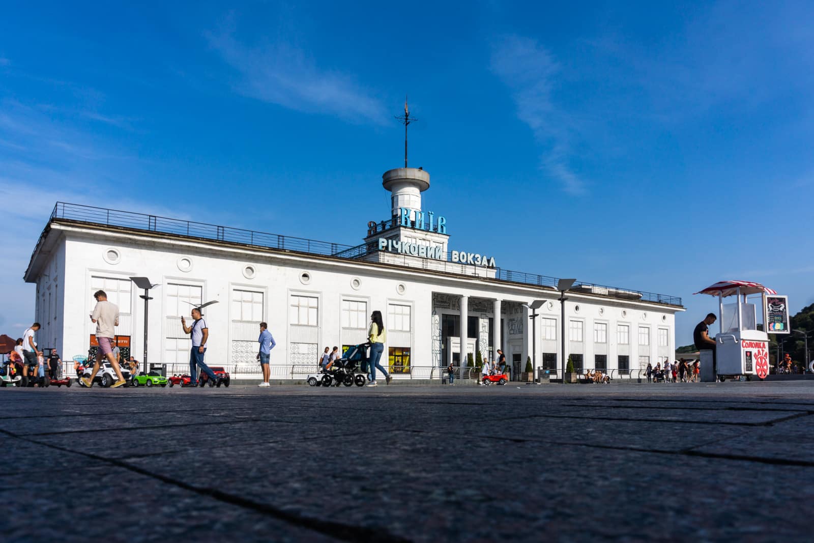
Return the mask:
POLYGON ((552 90, 559 66, 535 40, 510 36, 492 49, 492 72, 512 92, 517 115, 543 147, 540 168, 570 195, 585 194, 585 183, 569 159, 574 120, 554 104, 552 90))

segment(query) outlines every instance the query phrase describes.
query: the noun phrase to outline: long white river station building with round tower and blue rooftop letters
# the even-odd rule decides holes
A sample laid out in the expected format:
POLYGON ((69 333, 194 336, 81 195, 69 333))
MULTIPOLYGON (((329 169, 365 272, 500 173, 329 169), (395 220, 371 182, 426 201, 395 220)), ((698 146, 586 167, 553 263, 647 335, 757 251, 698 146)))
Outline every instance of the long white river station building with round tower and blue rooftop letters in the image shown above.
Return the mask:
MULTIPOLYGON (((190 314, 191 304, 217 300, 204 309, 206 359, 236 374, 258 372, 260 321, 278 343, 273 375, 299 378, 313 370, 322 348, 364 342, 375 309, 386 316, 383 363, 397 379, 437 379, 450 360, 456 366, 466 360, 462 351, 494 359, 499 346, 515 378, 527 357, 556 374, 557 280, 453 251, 444 217, 422 209, 429 173, 393 169, 383 186, 392 194, 390 218, 369 223, 357 247, 56 204, 25 272, 25 281, 37 284, 38 342, 63 358, 88 353, 94 333, 88 313, 101 288, 120 307, 120 343, 142 360, 143 291, 130 280, 142 276, 160 283, 151 290, 148 360, 169 365, 170 373, 188 368, 190 339, 180 316, 190 314)), ((635 377, 675 351, 681 299, 577 283, 565 304, 566 350, 577 367, 635 377)))

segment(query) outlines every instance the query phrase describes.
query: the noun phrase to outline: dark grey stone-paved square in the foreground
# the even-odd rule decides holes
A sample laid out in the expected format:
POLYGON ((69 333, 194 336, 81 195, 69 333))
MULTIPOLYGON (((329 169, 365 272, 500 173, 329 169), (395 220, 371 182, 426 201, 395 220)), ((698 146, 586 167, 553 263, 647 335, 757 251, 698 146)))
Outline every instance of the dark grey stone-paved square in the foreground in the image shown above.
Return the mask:
POLYGON ((812 541, 814 383, 0 390, 4 541, 812 541))

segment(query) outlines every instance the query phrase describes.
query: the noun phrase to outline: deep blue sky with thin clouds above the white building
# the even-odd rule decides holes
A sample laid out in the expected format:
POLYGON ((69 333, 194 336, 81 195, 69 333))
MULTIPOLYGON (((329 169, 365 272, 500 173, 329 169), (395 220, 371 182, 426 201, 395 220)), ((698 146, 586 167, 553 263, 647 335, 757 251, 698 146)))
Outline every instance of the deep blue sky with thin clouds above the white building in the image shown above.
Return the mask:
POLYGON ((679 345, 721 279, 811 304, 814 4, 622 3, 4 7, 0 331, 57 200, 360 243, 407 93, 453 247, 682 296, 679 345))

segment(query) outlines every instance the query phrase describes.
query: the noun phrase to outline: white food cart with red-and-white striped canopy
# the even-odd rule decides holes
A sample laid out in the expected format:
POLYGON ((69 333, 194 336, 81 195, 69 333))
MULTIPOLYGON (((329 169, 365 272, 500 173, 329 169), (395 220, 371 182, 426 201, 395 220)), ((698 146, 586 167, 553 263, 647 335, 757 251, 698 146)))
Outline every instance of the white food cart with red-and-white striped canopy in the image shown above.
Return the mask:
MULTIPOLYGON (((716 379, 737 379, 742 375, 751 379, 756 375, 765 379, 768 375, 768 335, 758 329, 757 305, 750 303, 748 296, 759 294, 762 303, 763 326, 767 321, 767 295, 777 295, 776 291, 764 287, 759 282, 721 281, 696 292, 718 297, 718 324, 720 333, 715 336, 716 364, 712 367, 712 351, 702 350, 701 381, 714 383, 716 379), (735 296, 733 303, 724 304, 724 298, 735 296)), ((772 331, 778 333, 778 331, 772 331)), ((782 333, 782 332, 779 332, 782 333)), ((787 332, 786 332, 787 333, 787 332)))

